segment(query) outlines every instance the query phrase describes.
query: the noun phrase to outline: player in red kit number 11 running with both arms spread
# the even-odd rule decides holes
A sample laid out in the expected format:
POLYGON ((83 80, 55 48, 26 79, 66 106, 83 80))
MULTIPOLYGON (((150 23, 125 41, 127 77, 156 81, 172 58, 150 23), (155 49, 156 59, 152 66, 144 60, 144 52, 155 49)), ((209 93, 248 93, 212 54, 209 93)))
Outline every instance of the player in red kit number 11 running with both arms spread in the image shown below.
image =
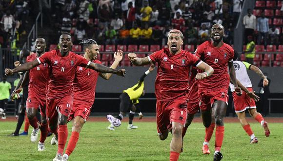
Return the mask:
POLYGON ((61 161, 62 153, 68 137, 67 119, 73 106, 73 82, 78 66, 90 68, 102 73, 115 73, 125 76, 124 69, 111 69, 104 65, 93 63, 71 52, 73 45, 71 36, 62 34, 59 40, 60 50, 45 52, 36 60, 27 62, 14 69, 5 69, 6 75, 27 71, 42 63, 49 65, 50 80, 46 90, 46 118, 50 132, 57 133, 58 151, 53 161, 61 161))

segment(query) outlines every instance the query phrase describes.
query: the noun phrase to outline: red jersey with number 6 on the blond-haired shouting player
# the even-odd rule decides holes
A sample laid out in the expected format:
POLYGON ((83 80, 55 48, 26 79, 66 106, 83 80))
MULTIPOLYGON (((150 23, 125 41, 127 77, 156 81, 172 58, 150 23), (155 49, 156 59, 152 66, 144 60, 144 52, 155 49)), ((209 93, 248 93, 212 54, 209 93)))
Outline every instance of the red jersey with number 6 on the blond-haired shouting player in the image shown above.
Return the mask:
POLYGON ((191 65, 198 66, 201 61, 188 51, 172 55, 163 48, 148 59, 158 63, 155 80, 155 95, 159 101, 172 101, 188 92, 189 70, 191 65))

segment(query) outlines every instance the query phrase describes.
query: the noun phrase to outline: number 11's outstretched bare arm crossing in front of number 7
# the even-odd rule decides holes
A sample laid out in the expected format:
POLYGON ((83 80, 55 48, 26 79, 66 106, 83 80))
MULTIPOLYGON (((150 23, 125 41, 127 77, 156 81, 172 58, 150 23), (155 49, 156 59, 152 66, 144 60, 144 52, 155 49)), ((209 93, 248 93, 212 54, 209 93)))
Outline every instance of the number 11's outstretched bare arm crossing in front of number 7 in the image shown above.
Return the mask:
POLYGON ((88 68, 95 70, 95 71, 98 71, 100 73, 114 73, 114 74, 117 74, 118 76, 122 76, 122 77, 125 77, 125 75, 126 75, 125 69, 119 69, 119 70, 111 69, 111 68, 108 68, 107 66, 104 66, 104 65, 101 65, 101 64, 98 64, 98 63, 93 63, 93 62, 90 62, 88 68))

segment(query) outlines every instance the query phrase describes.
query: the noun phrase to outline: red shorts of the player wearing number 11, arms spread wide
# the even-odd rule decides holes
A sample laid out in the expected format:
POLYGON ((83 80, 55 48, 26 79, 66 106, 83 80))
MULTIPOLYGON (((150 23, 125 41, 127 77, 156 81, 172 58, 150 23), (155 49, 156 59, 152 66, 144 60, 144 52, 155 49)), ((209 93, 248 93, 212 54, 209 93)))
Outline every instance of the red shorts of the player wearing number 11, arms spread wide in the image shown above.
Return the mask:
POLYGON ((73 107, 73 96, 65 96, 57 99, 47 99, 46 118, 47 121, 58 120, 58 111, 68 117, 73 107))

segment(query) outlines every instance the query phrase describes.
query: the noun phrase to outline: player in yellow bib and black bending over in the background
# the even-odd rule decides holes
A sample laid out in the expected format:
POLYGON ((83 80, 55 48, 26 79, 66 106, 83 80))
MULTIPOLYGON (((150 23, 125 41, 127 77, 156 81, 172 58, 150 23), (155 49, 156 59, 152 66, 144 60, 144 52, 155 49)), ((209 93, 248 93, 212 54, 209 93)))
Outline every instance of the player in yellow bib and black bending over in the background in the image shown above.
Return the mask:
MULTIPOLYGON (((114 126, 119 127, 121 125, 122 119, 126 116, 126 112, 128 112, 129 110, 129 124, 127 129, 131 130, 138 128, 138 126, 133 125, 133 120, 137 108, 135 105, 139 103, 139 98, 141 96, 144 96, 145 94, 144 78, 153 70, 154 64, 151 64, 149 69, 144 72, 137 84, 123 91, 123 93, 120 95, 120 114, 116 118, 114 118, 112 115, 106 116, 108 121, 110 121, 111 123, 107 127, 107 129, 114 131, 114 126)), ((141 114, 139 115, 141 116, 141 114)))

